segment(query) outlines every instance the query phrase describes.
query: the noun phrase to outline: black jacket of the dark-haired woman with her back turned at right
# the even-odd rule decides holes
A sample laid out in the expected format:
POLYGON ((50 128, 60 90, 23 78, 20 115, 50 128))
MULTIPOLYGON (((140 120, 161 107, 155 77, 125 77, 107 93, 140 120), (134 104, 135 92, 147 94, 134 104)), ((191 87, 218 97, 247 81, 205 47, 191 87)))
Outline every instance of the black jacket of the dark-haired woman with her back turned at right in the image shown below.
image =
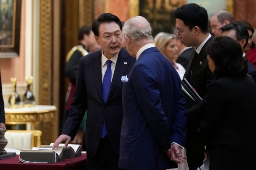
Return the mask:
POLYGON ((207 87, 199 133, 210 151, 210 170, 253 170, 256 160, 256 84, 223 77, 207 87), (239 159, 238 159, 239 156, 239 159))

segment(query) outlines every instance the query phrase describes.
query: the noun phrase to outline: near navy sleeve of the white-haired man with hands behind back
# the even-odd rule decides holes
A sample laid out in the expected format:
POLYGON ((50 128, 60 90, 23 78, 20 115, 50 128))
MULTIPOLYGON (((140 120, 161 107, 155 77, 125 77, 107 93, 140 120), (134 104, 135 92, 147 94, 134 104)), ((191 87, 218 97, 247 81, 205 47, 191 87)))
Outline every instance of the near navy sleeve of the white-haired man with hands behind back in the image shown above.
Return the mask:
POLYGON ((143 64, 133 68, 133 83, 143 117, 161 149, 170 148, 170 125, 161 105, 160 91, 152 70, 143 64))

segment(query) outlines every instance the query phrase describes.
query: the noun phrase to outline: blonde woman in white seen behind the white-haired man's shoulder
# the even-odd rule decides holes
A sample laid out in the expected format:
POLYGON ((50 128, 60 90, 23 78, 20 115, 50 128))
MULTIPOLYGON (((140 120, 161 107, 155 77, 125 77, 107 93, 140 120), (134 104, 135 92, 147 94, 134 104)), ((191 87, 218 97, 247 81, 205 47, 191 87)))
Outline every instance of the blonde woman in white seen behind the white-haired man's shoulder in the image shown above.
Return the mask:
POLYGON ((165 57, 172 63, 173 67, 178 72, 180 79, 183 79, 186 70, 181 64, 176 63, 175 61, 179 55, 176 35, 166 32, 161 33, 154 43, 160 53, 165 55, 165 57))

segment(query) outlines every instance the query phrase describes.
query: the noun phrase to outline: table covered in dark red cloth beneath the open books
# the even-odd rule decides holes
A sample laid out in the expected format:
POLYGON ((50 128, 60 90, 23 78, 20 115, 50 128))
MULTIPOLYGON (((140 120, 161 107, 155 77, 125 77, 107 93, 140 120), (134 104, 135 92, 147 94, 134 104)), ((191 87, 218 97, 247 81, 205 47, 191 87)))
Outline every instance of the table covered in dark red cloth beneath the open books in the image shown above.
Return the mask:
POLYGON ((21 163, 19 155, 0 159, 1 170, 86 170, 86 154, 58 163, 21 163))

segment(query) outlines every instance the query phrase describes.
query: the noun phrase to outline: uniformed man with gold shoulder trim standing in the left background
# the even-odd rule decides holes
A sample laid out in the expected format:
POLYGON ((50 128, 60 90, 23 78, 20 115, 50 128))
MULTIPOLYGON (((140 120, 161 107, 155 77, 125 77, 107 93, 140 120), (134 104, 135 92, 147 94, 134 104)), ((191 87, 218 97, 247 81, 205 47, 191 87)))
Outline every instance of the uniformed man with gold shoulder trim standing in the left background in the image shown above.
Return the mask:
MULTIPOLYGON (((94 34, 91 30, 91 26, 82 26, 78 30, 78 40, 79 45, 74 46, 66 56, 66 65, 65 65, 65 75, 69 79, 69 87, 66 93, 66 106, 62 119, 62 127, 64 126, 66 119, 69 115, 69 106, 73 100, 73 94, 76 88, 76 80, 77 80, 77 68, 79 64, 79 60, 81 57, 84 57, 88 53, 94 52, 96 50, 92 50, 93 47, 98 46, 96 44, 94 34)), ((98 49, 99 50, 98 46, 98 49)), ((85 150, 85 125, 86 125, 86 117, 87 113, 84 115, 84 119, 77 131, 77 135, 72 142, 73 144, 82 144, 82 149, 85 150)))

